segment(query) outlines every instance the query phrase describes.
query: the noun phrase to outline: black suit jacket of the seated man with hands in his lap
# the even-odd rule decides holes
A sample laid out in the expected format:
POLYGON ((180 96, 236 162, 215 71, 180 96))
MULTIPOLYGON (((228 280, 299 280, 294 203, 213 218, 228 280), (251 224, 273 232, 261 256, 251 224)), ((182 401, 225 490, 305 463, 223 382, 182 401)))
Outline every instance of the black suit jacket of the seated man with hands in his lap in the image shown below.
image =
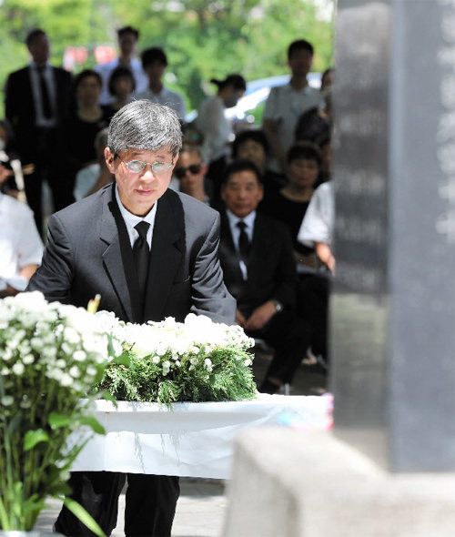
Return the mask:
POLYGON ((257 213, 247 263, 248 280, 245 281, 229 222, 223 213, 219 259, 227 289, 237 299, 238 309, 247 318, 270 299, 277 299, 288 308, 295 307, 297 272, 292 241, 288 228, 278 220, 257 213))

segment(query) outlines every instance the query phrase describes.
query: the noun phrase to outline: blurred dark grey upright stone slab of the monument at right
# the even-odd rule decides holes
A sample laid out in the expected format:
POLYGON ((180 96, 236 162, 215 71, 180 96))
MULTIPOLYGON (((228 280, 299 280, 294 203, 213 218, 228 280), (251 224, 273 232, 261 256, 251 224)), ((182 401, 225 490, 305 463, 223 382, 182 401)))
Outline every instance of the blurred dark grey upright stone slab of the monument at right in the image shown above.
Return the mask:
POLYGON ((455 2, 339 0, 335 432, 455 470, 455 2))

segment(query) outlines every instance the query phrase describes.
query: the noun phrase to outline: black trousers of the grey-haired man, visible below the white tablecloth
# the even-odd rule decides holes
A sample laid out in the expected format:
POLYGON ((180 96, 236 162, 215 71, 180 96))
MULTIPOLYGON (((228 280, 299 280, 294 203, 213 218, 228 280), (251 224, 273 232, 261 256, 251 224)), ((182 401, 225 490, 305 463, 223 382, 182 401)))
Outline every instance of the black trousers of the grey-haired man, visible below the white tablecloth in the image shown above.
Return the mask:
MULTIPOLYGON (((180 493, 177 477, 76 471, 68 481, 73 490, 70 498, 80 503, 108 536, 116 527, 118 496, 126 479, 126 537, 170 536, 180 493)), ((95 535, 65 506, 58 515, 55 531, 71 537, 95 535)))

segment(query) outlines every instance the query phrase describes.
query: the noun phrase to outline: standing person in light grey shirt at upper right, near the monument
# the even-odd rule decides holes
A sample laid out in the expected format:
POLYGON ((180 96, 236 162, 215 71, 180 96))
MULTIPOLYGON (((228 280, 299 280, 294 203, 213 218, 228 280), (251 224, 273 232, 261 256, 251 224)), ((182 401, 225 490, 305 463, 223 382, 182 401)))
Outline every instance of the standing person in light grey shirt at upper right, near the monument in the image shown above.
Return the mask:
POLYGON ((305 39, 292 42, 288 47, 290 81, 286 86, 272 87, 266 101, 263 129, 273 155, 269 167, 276 172, 287 171, 286 154, 294 143, 298 118, 308 108, 323 104, 323 94, 308 86, 313 54, 313 46, 305 39))

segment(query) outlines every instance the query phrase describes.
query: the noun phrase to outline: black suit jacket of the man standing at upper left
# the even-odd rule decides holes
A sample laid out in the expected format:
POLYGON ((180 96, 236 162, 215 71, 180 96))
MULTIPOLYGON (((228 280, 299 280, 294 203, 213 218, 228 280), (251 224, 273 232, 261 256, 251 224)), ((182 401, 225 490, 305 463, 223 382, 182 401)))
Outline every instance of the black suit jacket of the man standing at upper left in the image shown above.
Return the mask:
MULTIPOLYGON (((56 83, 56 128, 72 105, 71 75, 65 69, 52 67, 56 83)), ((11 73, 5 86, 5 116, 15 132, 15 147, 23 163, 34 162, 36 144, 36 110, 30 82, 30 67, 11 73)))

